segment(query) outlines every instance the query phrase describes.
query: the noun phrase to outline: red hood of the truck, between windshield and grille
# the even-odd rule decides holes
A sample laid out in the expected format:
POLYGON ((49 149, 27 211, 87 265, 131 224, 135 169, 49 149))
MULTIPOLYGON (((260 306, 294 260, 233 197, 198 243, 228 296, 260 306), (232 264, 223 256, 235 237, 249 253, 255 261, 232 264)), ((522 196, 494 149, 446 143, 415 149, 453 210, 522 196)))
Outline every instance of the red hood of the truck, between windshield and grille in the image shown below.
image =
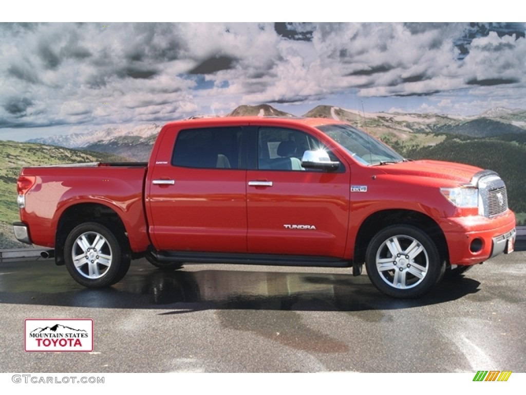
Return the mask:
POLYGON ((459 184, 469 183, 482 169, 471 165, 442 161, 410 161, 380 165, 381 170, 392 175, 412 175, 434 179, 456 181, 459 184))

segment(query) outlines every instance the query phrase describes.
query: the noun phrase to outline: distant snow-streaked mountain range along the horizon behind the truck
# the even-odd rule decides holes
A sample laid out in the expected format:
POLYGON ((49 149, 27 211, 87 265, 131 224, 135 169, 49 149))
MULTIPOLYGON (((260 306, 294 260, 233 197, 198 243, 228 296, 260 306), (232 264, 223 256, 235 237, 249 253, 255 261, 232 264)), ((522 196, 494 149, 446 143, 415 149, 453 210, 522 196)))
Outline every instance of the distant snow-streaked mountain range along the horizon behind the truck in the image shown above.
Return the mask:
MULTIPOLYGON (((268 105, 241 105, 227 116, 296 116, 268 105)), ((364 113, 330 105, 320 105, 301 116, 335 118, 367 130, 386 141, 410 145, 434 145, 448 134, 470 137, 494 137, 522 133, 526 130, 526 111, 492 108, 478 116, 441 114, 364 113)), ((147 161, 161 126, 140 125, 125 129, 107 128, 87 133, 55 135, 28 142, 112 153, 136 161, 147 161)))

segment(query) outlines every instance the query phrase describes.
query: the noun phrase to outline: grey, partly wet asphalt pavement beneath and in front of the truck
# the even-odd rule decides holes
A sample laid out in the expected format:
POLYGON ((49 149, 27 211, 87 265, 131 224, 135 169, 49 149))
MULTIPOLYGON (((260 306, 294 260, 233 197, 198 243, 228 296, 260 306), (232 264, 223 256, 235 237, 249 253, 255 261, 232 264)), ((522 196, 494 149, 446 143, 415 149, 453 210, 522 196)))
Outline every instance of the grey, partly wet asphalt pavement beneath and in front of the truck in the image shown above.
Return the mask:
POLYGON ((0 263, 0 372, 526 371, 526 240, 417 300, 350 269, 132 262, 105 290, 0 263), (25 352, 27 318, 94 320, 92 352, 25 352))

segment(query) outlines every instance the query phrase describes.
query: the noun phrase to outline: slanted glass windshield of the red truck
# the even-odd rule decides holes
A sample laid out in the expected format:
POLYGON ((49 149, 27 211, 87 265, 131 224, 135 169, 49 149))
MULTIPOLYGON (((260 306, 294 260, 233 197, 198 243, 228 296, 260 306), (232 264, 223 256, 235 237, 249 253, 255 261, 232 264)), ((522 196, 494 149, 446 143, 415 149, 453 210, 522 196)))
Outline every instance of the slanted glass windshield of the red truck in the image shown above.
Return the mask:
POLYGON ((403 162, 403 157, 375 137, 351 125, 323 125, 318 129, 340 144, 358 162, 367 165, 403 162))

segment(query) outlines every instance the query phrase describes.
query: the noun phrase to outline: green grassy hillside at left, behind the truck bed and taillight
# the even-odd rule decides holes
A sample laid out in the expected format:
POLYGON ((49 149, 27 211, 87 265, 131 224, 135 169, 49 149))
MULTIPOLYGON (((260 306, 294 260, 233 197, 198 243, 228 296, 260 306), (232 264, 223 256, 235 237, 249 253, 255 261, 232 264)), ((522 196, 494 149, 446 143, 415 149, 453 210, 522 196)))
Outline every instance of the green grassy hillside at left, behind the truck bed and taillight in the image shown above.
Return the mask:
POLYGON ((26 246, 15 240, 11 224, 19 220, 16 180, 24 166, 81 162, 123 162, 120 156, 50 145, 0 141, 0 249, 26 246))

